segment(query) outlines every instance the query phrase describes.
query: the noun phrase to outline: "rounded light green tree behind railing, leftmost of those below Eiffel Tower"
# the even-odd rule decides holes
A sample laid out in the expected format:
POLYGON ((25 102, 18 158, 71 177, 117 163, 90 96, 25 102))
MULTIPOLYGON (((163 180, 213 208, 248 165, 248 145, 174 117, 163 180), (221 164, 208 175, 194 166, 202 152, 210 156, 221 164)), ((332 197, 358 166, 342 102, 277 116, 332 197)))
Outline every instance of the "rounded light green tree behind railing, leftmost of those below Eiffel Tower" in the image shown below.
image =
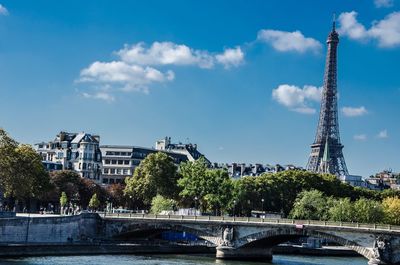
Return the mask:
POLYGON ((298 196, 290 212, 290 218, 327 220, 331 198, 326 197, 321 191, 303 191, 298 196))

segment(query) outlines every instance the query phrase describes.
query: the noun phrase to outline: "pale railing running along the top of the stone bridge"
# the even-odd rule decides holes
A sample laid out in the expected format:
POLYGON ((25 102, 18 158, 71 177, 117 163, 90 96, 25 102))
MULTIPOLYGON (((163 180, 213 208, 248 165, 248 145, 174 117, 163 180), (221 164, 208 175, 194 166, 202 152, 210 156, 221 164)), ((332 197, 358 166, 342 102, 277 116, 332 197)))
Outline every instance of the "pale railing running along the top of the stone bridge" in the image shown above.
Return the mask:
POLYGON ((256 218, 256 217, 233 217, 233 216, 203 216, 203 215, 157 215, 157 214, 137 214, 137 213, 100 213, 100 216, 106 219, 143 219, 143 220, 171 220, 171 221, 195 221, 201 223, 226 223, 234 222, 238 224, 281 224, 295 225, 298 228, 307 226, 352 228, 361 230, 384 230, 400 233, 400 226, 388 224, 363 224, 351 222, 334 222, 334 221, 318 221, 318 220, 295 220, 295 219, 278 219, 278 218, 256 218))

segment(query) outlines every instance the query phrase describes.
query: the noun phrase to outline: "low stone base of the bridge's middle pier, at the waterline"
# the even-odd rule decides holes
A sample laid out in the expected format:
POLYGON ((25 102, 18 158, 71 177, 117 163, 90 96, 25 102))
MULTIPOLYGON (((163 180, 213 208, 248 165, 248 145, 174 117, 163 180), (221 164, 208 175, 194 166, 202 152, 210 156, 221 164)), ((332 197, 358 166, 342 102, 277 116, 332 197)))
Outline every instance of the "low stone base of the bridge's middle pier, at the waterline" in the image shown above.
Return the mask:
POLYGON ((228 246, 217 247, 217 259, 242 260, 242 261, 272 261, 271 248, 234 248, 228 246))

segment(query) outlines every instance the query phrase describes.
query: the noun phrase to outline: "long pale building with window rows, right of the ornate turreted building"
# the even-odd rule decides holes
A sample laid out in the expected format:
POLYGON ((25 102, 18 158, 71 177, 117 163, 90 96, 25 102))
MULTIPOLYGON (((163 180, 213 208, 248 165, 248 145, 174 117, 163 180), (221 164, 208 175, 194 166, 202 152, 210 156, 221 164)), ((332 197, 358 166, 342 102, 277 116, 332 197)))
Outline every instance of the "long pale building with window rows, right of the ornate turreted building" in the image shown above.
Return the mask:
POLYGON ((197 150, 196 144, 172 144, 171 137, 157 141, 155 149, 138 146, 102 145, 100 150, 103 160, 103 184, 123 183, 126 177, 133 175, 140 162, 152 153, 164 152, 174 160, 176 165, 186 161, 194 161, 203 156, 197 150))

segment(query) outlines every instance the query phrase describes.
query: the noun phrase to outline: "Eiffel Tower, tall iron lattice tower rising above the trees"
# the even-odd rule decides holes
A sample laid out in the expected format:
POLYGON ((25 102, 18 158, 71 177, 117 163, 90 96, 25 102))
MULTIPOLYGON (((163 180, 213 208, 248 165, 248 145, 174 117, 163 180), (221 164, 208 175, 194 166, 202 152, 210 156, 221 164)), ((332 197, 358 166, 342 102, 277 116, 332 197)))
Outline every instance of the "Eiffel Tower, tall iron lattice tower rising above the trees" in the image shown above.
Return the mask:
POLYGON ((315 141, 311 145, 311 154, 307 170, 317 173, 329 173, 336 176, 348 175, 343 157, 343 145, 340 143, 339 121, 337 108, 337 46, 339 34, 333 21, 332 31, 326 41, 324 88, 322 92, 321 109, 315 141))

